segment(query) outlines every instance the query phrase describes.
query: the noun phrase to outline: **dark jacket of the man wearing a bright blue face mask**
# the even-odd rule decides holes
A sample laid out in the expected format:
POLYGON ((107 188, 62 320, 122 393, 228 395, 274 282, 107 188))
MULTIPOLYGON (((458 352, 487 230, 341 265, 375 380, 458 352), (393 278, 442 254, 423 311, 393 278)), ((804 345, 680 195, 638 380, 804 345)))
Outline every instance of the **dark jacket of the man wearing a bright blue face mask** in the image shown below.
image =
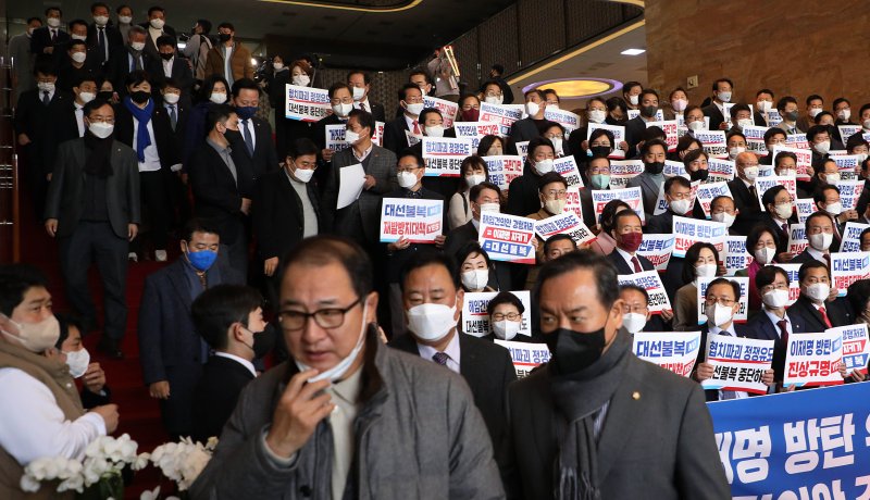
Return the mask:
MULTIPOLYGON (((190 315, 194 295, 187 276, 188 265, 182 257, 145 278, 137 336, 146 385, 169 380, 166 368, 202 363, 202 341, 190 315)), ((217 253, 217 260, 206 277, 210 287, 245 283, 245 278, 229 266, 223 252, 217 253)), ((195 384, 190 382, 191 387, 195 384)))

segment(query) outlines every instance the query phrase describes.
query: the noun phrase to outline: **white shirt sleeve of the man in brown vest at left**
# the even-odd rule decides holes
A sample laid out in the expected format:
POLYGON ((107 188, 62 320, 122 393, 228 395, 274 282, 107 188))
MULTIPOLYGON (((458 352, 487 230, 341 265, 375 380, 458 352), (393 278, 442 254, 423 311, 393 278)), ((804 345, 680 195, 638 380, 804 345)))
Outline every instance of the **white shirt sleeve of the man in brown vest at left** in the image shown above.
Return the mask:
POLYGON ((44 457, 80 460, 92 440, 105 436, 100 415, 67 421, 51 389, 18 368, 0 368, 0 447, 22 465, 44 457))

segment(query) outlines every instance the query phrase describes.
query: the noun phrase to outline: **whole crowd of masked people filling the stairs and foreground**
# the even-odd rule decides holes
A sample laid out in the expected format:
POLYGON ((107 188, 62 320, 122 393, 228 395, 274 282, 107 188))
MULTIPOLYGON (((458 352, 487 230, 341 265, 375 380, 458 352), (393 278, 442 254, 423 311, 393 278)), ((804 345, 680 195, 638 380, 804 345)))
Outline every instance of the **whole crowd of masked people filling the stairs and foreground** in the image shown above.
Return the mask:
MULTIPOLYGON (((763 382, 775 393, 791 390, 791 335, 870 323, 870 280, 840 297, 831 276, 846 224, 870 224, 870 103, 856 124, 842 97, 825 111, 809 96, 801 113, 797 98, 775 100, 770 89, 753 107, 733 103, 728 78, 701 105, 682 88, 666 101, 629 82, 621 96, 575 110, 582 123, 572 130, 546 117, 559 109, 557 92, 533 89, 509 133, 483 137, 458 176, 436 177, 418 140, 456 134, 424 96, 457 102, 449 118, 477 122, 482 102, 513 100, 500 66, 462 93, 436 51, 397 89, 398 113, 387 120, 364 71, 323 82, 310 57, 275 54, 256 74, 232 23, 212 37, 211 23, 197 21, 179 50, 163 8, 141 24, 126 5, 115 13, 113 22, 98 2, 92 22, 64 29, 61 10, 48 8, 46 26, 28 20, 26 39, 10 46, 24 53, 14 115, 23 172, 57 240, 75 314, 55 317, 38 271, 0 270, 4 498, 21 493, 29 461, 80 458, 117 427, 105 375, 80 338, 101 332, 101 354, 124 357, 126 276, 140 259, 166 262, 146 278, 135 328, 148 393, 171 436, 221 438, 192 498, 730 498, 704 402, 748 393, 703 391, 713 374, 704 349, 683 378, 638 360, 632 336, 773 340, 763 382), (306 123, 278 113, 273 129, 263 110, 284 109, 287 84, 327 88, 328 115, 306 123), (647 125, 662 116, 680 124, 675 148, 647 125), (347 148, 327 145, 328 125, 344 126, 347 148), (624 137, 596 125, 622 126, 624 137), (857 132, 844 137, 841 125, 857 132), (749 126, 767 128, 766 151, 806 134, 811 164, 747 150, 749 126), (731 196, 710 202, 709 220, 745 238, 749 264, 733 274, 749 287, 729 279, 721 248, 698 241, 659 268, 672 308, 654 314, 647 290, 620 287, 618 277, 656 270, 639 249, 648 235, 670 234, 674 217, 708 220, 693 190, 710 180, 713 157, 696 137, 705 130, 725 132, 734 168, 731 196), (507 189, 494 183, 486 159, 523 151, 522 174, 507 189), (843 152, 859 155, 849 176, 866 183, 847 210, 835 161, 843 152), (533 265, 492 259, 480 242, 482 214, 563 214, 569 182, 554 161, 566 157, 583 179, 581 215, 595 240, 536 237, 533 265), (614 158, 643 165, 627 180, 641 189, 639 207, 596 207, 592 193, 611 189, 614 158), (666 161, 682 171, 666 172, 666 161), (358 164, 362 190, 339 209, 343 172, 358 164), (796 191, 759 192, 766 165, 794 178, 796 191), (383 242, 386 198, 440 201, 442 234, 383 242), (800 220, 797 199, 813 202, 800 220), (790 251, 797 224, 808 241, 799 253, 790 251), (783 263, 800 264, 791 304, 783 263), (102 321, 88 287, 92 264, 102 321), (701 278, 712 280, 699 309, 701 278), (521 290, 532 292, 531 311, 513 293, 521 290), (462 303, 483 291, 497 292, 486 309, 490 330, 472 336, 461 328, 462 303), (746 299, 748 321, 738 323, 746 299), (519 335, 526 312, 531 335, 519 335), (539 343, 550 361, 518 380, 496 340, 539 343)), ((870 228, 859 247, 870 251, 870 228)), ((858 370, 841 375, 865 379, 858 370)))

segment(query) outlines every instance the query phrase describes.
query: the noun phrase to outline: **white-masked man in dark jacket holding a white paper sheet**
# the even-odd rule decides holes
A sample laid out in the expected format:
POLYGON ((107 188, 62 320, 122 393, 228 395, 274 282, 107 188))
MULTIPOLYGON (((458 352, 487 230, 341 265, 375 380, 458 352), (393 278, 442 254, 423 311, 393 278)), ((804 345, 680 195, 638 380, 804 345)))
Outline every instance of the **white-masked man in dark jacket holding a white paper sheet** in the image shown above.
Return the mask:
POLYGON ((324 232, 357 241, 377 262, 381 253, 381 199, 387 192, 396 190, 398 179, 396 155, 372 142, 374 118, 370 113, 361 110, 350 112, 345 133, 350 147, 333 155, 333 171, 326 179, 321 216, 324 232), (353 164, 361 164, 365 172, 362 192, 349 205, 336 209, 341 187, 341 168, 353 164))

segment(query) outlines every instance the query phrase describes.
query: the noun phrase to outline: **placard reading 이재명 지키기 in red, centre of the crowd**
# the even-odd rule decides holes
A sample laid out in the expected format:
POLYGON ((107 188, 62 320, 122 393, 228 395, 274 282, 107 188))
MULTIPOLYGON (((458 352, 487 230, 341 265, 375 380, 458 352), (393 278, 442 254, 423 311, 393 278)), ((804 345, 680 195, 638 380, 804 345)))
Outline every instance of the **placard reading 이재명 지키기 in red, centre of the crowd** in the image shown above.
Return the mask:
POLYGON ((477 242, 494 261, 535 264, 535 221, 506 213, 481 213, 477 242))

